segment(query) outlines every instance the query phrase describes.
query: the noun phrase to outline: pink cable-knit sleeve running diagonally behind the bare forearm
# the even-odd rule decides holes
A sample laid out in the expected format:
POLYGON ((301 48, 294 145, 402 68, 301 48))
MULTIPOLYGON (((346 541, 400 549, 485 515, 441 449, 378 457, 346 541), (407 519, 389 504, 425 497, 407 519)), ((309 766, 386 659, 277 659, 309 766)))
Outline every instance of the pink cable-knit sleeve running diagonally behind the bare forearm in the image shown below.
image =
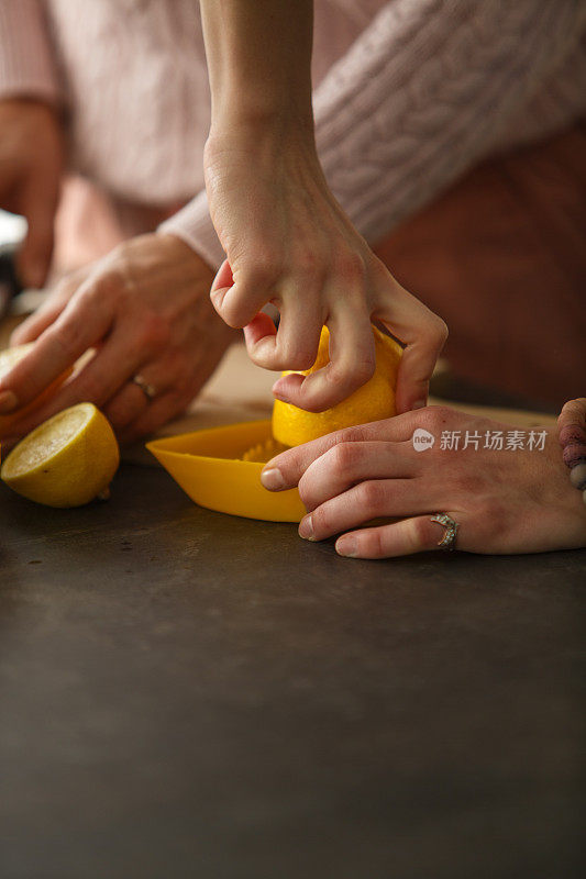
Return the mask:
MULTIPOLYGON (((485 157, 586 26, 584 0, 394 0, 313 96, 325 178, 376 243, 485 157)), ((204 193, 162 231, 223 259, 204 193)))

